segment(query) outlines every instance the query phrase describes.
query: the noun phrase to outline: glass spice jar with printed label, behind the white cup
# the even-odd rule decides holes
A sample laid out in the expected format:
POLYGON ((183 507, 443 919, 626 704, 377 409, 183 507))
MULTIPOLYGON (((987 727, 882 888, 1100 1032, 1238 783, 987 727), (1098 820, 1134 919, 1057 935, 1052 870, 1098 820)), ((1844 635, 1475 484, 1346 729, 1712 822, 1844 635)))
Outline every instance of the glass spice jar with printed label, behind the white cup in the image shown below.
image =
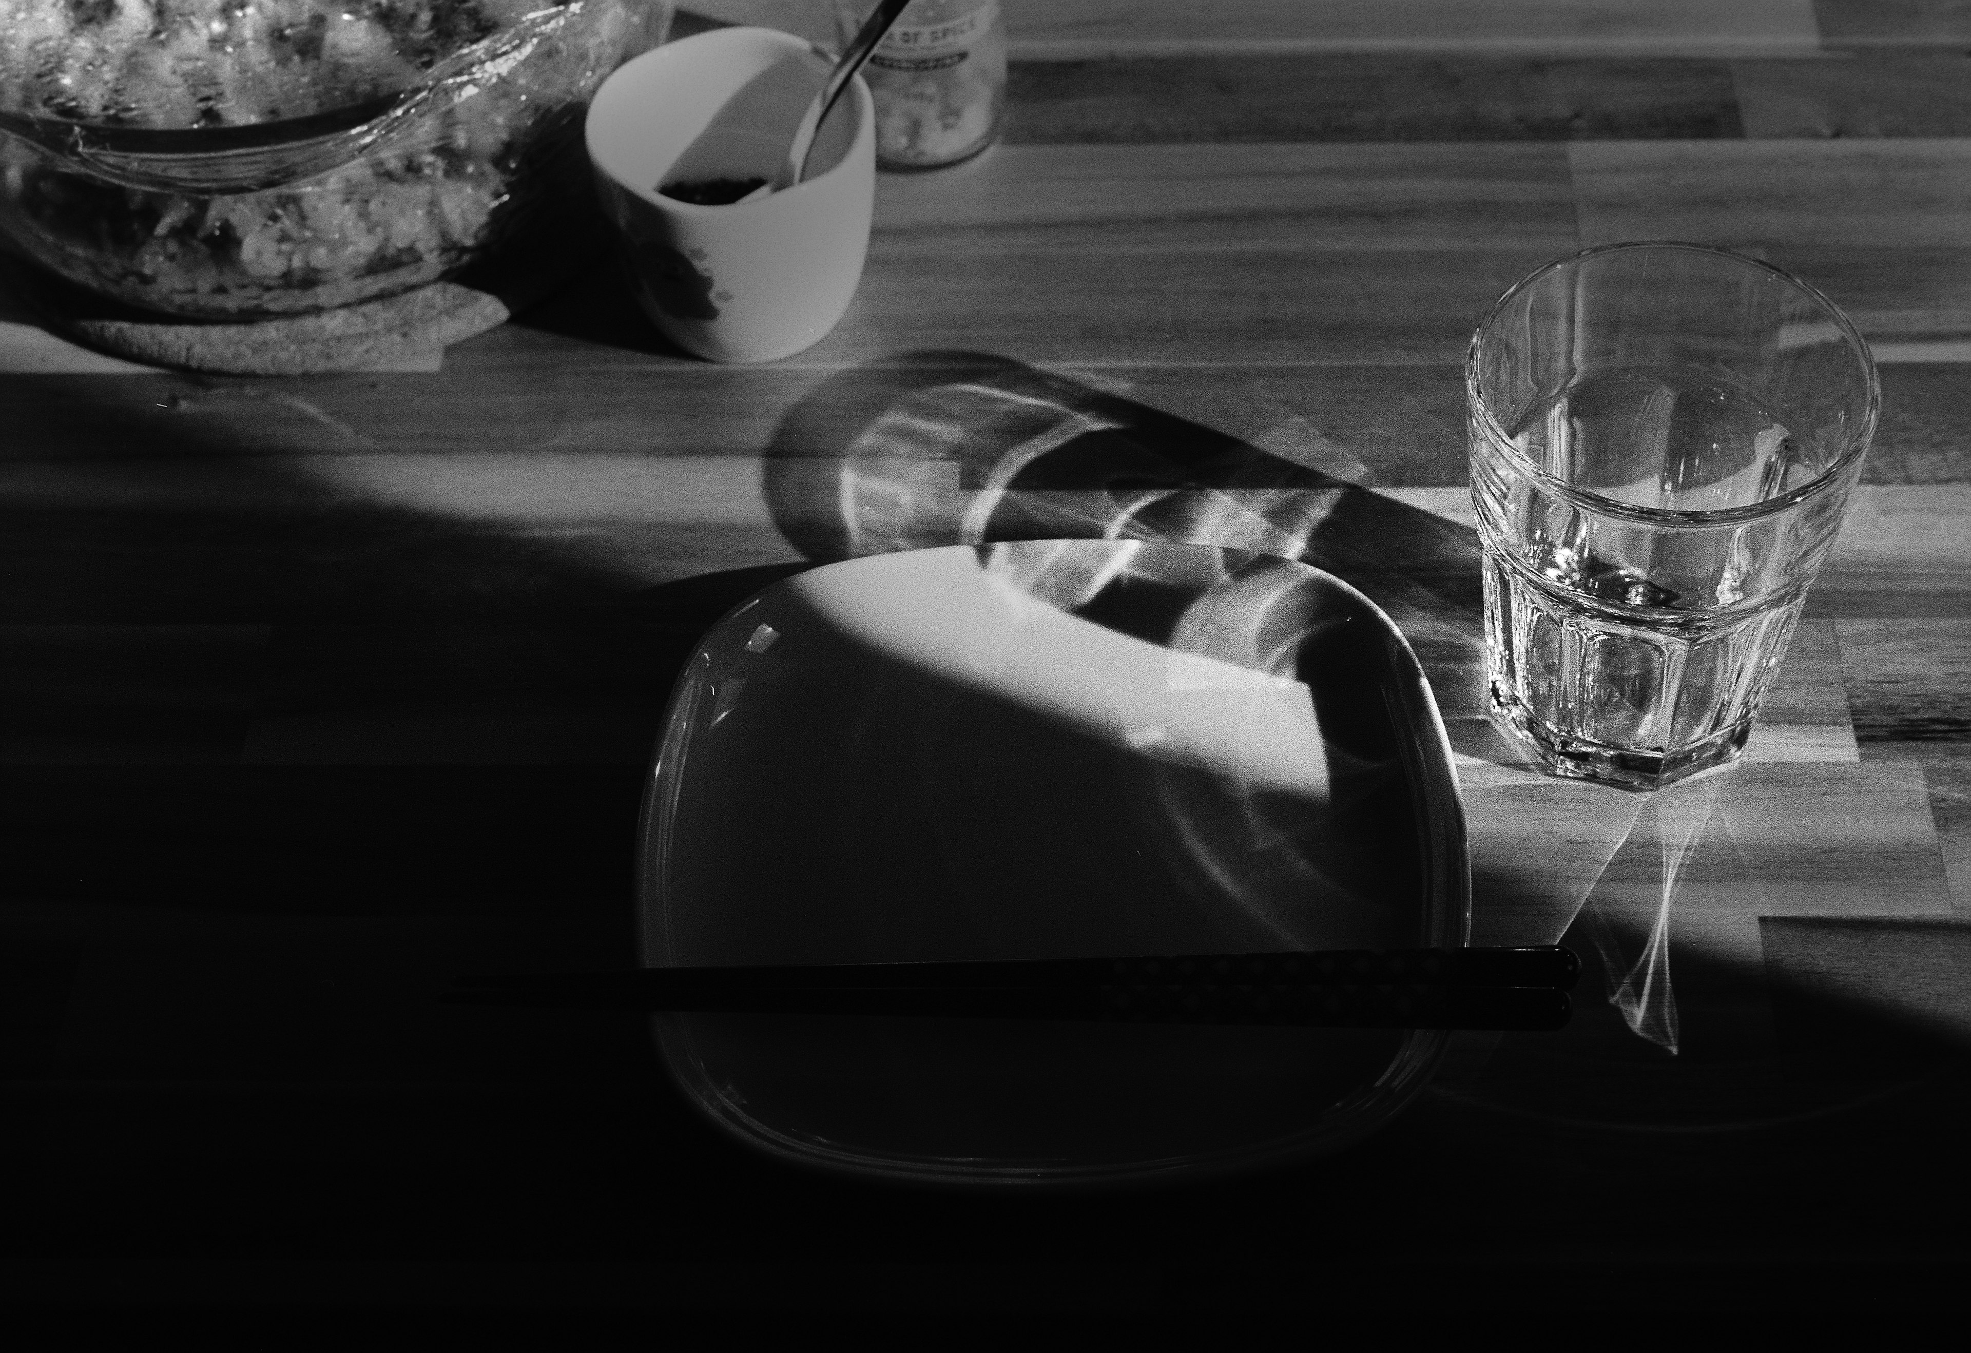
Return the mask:
MULTIPOLYGON (((873 0, 836 0, 844 45, 873 0)), ((932 170, 986 150, 1005 112, 999 0, 913 0, 863 65, 875 95, 875 158, 932 170)))

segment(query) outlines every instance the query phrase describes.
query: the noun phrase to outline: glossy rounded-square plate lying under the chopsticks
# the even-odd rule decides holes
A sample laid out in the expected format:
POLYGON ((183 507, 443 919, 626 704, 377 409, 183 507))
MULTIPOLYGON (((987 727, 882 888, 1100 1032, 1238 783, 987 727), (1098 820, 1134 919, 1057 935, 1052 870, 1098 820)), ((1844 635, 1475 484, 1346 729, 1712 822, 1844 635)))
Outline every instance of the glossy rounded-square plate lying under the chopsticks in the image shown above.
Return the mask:
MULTIPOLYGON (((883 554, 767 588, 672 696, 645 962, 1461 945, 1464 819, 1415 657, 1305 564, 1141 540, 883 554)), ((1443 1033, 692 1014, 666 1061, 769 1152, 1104 1181, 1332 1150, 1443 1033)))

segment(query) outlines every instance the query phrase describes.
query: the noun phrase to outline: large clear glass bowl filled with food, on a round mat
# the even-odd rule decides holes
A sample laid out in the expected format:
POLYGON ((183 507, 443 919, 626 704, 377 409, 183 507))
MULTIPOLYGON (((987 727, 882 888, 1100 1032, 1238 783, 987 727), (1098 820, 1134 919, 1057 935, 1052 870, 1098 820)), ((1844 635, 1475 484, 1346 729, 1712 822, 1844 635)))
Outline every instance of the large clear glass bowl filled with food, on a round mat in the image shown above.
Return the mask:
POLYGON ((0 0, 0 235, 248 320, 449 276, 585 199, 587 97, 670 0, 0 0))

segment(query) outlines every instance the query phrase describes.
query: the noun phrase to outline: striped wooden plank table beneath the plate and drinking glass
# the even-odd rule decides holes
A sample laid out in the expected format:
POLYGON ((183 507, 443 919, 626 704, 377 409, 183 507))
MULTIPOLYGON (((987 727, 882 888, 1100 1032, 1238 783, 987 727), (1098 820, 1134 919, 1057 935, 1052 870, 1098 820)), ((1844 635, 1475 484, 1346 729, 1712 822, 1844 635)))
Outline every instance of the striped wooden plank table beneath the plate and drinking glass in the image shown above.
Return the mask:
MULTIPOLYGON (((1005 144, 883 178, 853 310, 782 363, 666 351, 605 268, 422 371, 114 371, 0 323, 6 1302, 1957 1300, 1961 6, 1009 10, 1005 144), (1459 371, 1504 286, 1650 237, 1823 286, 1884 396, 1746 759, 1654 797, 1537 777, 1482 720, 1459 371), (1459 749, 1474 939, 1589 959, 1567 1033, 1461 1039, 1332 1160, 1005 1199, 763 1162, 635 1020, 432 1000, 627 962, 672 673, 767 580, 956 538, 978 448, 885 469, 869 434, 966 381, 1120 428, 1173 529, 1390 605, 1459 749), (909 511, 844 517, 850 465, 909 511)), ((1112 523, 1100 469, 1035 471, 997 529, 1112 523)))

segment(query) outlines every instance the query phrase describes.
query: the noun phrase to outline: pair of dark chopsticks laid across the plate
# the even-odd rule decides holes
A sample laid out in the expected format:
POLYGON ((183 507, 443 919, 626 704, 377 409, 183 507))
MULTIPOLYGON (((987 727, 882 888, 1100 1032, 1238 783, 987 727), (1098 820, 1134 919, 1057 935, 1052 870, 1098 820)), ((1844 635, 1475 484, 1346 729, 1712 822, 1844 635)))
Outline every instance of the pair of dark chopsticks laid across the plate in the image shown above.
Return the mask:
POLYGON ((1366 1030, 1557 1030, 1581 964, 1559 947, 1023 962, 639 968, 461 978, 455 1004, 1366 1030))

